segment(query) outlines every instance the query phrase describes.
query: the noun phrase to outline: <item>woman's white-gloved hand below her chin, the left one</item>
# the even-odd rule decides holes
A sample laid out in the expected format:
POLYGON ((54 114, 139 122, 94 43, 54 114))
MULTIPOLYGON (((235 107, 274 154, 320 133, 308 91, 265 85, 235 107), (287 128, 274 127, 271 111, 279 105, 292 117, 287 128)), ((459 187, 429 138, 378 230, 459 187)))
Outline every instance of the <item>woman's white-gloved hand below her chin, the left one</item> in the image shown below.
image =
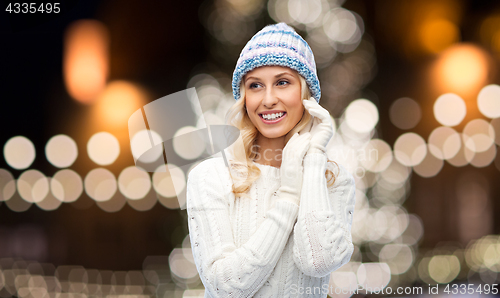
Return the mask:
POLYGON ((281 158, 280 176, 281 187, 280 198, 288 199, 296 204, 299 203, 300 191, 302 189, 302 176, 304 166, 302 161, 310 146, 311 133, 301 135, 295 133, 286 143, 281 158))

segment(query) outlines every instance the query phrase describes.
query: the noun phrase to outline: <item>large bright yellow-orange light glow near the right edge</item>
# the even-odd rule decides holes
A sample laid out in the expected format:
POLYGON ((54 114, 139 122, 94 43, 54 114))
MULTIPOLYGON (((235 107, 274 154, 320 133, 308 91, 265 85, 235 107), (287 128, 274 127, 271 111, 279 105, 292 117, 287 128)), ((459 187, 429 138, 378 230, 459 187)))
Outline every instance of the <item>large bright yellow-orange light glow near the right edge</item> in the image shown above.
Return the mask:
POLYGON ((469 96, 478 92, 488 80, 489 57, 472 44, 456 44, 440 54, 433 81, 439 93, 453 92, 469 96))

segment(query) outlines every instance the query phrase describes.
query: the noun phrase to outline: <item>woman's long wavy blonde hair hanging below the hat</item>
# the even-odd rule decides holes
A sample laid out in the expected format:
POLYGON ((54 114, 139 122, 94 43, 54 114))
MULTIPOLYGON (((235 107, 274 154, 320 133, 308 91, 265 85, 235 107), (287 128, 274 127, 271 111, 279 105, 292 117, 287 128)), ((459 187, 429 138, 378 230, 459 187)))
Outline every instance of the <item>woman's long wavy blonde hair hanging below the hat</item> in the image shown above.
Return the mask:
MULTIPOLYGON (((305 79, 299 75, 301 86, 301 98, 309 99, 311 93, 305 79)), ((242 142, 236 142, 232 147, 232 156, 234 159, 230 160, 230 173, 233 179, 232 191, 236 198, 249 197, 248 191, 252 183, 260 177, 260 169, 253 163, 258 152, 253 151, 256 144, 257 136, 259 135, 258 129, 253 125, 250 120, 245 105, 245 85, 243 81, 240 85, 240 99, 228 110, 226 114, 226 124, 235 126, 240 130, 242 142), (243 146, 243 148, 241 148, 243 146), (244 152, 244 155, 241 154, 244 152)), ((300 121, 290 130, 285 136, 285 144, 296 133, 306 127, 309 122, 313 121, 313 117, 307 109, 304 109, 304 114, 300 121)), ((327 169, 325 171, 325 179, 328 180, 328 186, 335 183, 335 175, 333 174, 333 164, 338 164, 327 157, 327 169)), ((337 174, 338 175, 338 174, 337 174)))

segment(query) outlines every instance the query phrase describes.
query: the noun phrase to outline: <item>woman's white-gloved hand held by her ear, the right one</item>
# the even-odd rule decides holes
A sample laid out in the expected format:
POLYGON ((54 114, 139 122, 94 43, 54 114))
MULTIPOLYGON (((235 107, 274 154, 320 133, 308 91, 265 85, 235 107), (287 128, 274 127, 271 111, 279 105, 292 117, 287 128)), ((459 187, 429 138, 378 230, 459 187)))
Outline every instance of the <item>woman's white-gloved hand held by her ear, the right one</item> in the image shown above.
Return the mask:
POLYGON ((307 151, 310 153, 326 153, 326 145, 333 137, 333 123, 330 113, 320 106, 316 100, 311 97, 309 100, 302 100, 304 107, 309 114, 314 116, 311 128, 311 146, 307 151))

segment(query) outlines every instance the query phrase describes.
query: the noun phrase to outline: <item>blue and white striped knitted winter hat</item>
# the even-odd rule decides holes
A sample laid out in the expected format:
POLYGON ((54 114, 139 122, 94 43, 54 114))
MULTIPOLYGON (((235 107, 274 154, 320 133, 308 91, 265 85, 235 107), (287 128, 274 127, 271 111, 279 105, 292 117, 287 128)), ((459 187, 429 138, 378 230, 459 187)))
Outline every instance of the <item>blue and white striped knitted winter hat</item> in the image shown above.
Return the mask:
POLYGON ((264 65, 286 66, 296 70, 307 82, 311 96, 319 103, 321 88, 314 55, 307 42, 285 23, 267 25, 250 39, 241 51, 233 73, 233 96, 240 98, 243 76, 264 65))

